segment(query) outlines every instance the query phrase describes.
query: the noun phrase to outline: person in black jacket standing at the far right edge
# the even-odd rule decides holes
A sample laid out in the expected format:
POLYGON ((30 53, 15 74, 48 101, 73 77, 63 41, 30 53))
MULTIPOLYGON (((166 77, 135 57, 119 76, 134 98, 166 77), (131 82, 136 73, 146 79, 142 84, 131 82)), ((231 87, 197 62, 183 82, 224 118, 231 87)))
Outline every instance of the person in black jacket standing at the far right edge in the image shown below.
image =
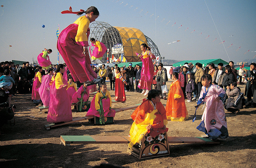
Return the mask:
POLYGON ((253 105, 256 108, 256 63, 250 64, 250 70, 247 70, 245 79, 247 80, 245 86, 245 96, 247 97, 246 106, 253 105), (253 98, 251 98, 253 97, 253 98))

